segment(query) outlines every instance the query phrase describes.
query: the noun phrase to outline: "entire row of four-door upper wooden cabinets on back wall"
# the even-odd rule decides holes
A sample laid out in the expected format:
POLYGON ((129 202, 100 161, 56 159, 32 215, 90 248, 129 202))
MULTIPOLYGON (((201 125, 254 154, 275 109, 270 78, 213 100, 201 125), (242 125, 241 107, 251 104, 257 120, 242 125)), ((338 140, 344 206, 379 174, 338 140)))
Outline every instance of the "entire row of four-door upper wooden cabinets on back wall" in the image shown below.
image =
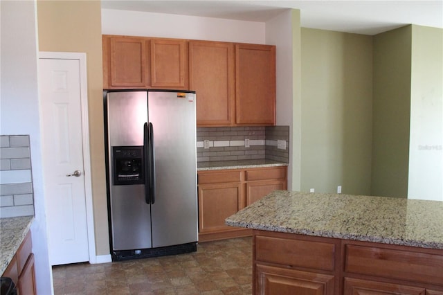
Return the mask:
POLYGON ((103 35, 103 88, 197 92, 197 126, 275 125, 275 46, 103 35))

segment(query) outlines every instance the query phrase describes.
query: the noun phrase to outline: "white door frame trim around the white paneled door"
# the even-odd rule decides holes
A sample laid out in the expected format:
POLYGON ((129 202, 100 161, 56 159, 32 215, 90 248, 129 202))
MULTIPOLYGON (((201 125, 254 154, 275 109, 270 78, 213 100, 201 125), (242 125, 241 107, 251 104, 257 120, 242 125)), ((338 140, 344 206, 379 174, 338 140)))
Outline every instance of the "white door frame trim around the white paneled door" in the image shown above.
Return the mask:
MULTIPOLYGON (((39 51, 39 59, 78 60, 80 64, 80 106, 82 111, 81 119, 82 119, 82 152, 83 152, 83 169, 84 169, 84 197, 86 199, 89 263, 97 263, 96 237, 94 232, 94 219, 93 219, 91 152, 89 150, 89 116, 88 116, 89 111, 88 111, 86 53, 39 51)), ((39 98, 39 100, 40 99, 41 98, 39 98)), ((48 202, 46 197, 45 197, 45 202, 48 202)), ((48 231, 48 224, 46 224, 46 231, 48 231)))

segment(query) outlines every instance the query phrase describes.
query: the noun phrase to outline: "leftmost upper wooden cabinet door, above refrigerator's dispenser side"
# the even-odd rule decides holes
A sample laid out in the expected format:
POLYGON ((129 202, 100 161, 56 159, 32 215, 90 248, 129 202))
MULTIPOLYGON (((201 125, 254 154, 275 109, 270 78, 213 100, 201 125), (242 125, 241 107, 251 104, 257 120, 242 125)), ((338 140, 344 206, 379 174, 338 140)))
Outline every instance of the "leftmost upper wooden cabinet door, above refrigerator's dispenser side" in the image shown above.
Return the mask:
POLYGON ((109 37, 109 87, 145 87, 147 42, 145 38, 109 37))

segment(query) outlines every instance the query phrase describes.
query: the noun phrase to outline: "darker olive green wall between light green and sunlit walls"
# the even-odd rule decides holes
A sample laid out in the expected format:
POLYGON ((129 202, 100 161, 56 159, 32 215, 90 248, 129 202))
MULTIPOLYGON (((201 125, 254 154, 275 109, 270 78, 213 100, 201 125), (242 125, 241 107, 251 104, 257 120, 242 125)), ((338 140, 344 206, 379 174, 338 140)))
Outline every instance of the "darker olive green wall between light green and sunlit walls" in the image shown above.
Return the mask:
POLYGON ((372 195, 408 195, 411 33, 374 36, 372 195))

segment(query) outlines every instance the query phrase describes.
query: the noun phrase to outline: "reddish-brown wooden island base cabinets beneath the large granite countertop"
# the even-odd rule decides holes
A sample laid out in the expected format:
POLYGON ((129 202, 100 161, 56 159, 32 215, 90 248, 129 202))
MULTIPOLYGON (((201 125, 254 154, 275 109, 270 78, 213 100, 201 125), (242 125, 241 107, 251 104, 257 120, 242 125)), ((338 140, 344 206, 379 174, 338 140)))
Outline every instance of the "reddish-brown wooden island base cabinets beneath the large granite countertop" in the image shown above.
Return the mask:
POLYGON ((253 231, 253 294, 443 295, 443 250, 253 231))

